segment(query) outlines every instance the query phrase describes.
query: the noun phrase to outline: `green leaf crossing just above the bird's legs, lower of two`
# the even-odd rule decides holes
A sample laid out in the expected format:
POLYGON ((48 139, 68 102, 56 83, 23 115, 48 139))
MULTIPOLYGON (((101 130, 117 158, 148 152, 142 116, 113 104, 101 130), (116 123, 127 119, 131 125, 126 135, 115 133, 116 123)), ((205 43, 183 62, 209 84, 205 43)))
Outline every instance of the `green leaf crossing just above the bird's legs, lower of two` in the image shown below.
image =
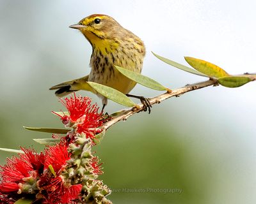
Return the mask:
POLYGON ((106 85, 98 84, 95 82, 87 82, 95 91, 99 92, 102 96, 105 96, 108 99, 111 99, 112 101, 115 101, 116 103, 120 103, 121 105, 132 107, 136 104, 125 94, 123 94, 120 91, 117 91, 116 89, 113 89, 111 87, 108 87, 106 85))

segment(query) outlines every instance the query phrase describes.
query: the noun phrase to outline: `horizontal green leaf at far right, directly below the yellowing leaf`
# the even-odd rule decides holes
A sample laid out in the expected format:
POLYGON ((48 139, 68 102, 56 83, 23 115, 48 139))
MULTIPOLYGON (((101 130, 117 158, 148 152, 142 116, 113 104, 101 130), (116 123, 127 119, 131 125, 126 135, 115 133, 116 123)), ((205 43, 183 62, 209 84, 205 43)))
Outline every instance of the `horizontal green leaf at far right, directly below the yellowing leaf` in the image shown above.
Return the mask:
POLYGON ((224 87, 235 88, 241 87, 241 85, 252 82, 255 78, 250 77, 221 77, 218 78, 218 82, 224 87))

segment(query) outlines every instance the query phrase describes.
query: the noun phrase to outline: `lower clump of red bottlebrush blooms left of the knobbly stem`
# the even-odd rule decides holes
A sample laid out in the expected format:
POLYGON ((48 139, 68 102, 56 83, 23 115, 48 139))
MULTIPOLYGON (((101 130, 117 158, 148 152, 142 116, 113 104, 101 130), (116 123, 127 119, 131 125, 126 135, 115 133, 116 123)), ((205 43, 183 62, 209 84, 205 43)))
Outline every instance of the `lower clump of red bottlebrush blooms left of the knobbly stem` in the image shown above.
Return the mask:
POLYGON ((45 154, 22 150, 24 154, 8 159, 7 164, 1 166, 0 203, 12 204, 26 195, 51 204, 73 203, 72 200, 79 198, 82 185, 71 185, 61 175, 70 159, 66 142, 50 146, 45 154), (53 170, 49 169, 50 165, 53 170))

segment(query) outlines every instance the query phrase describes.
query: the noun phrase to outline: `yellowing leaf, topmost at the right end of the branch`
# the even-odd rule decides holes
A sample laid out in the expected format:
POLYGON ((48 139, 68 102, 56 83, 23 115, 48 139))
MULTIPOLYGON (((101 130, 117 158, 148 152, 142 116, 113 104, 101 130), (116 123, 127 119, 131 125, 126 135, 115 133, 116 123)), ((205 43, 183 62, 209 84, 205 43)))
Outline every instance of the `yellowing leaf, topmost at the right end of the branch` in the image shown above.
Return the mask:
POLYGON ((211 62, 207 62, 202 59, 196 59, 193 57, 184 58, 188 62, 188 64, 190 64, 190 66, 192 66, 197 71, 200 71, 209 77, 220 78, 229 76, 224 69, 221 69, 220 67, 218 67, 215 64, 212 64, 211 62))

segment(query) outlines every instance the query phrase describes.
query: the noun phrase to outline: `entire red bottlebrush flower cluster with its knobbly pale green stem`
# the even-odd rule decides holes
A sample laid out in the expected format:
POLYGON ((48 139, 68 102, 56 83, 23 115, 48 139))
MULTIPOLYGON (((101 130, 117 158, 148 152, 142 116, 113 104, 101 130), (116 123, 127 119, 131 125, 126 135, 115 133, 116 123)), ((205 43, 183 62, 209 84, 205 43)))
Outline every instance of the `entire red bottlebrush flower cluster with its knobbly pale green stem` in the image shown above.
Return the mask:
POLYGON ((55 114, 71 129, 65 137, 52 135, 60 138, 60 143, 48 146, 40 154, 33 149, 22 149, 24 154, 7 159, 6 165, 0 166, 0 204, 13 204, 20 198, 42 204, 83 203, 88 195, 89 202, 105 199, 110 190, 96 180, 103 173, 102 163, 92 156, 91 147, 100 139, 100 135, 96 138, 95 135, 102 131, 99 127, 108 119, 91 102, 76 94, 61 99, 69 114, 55 114))

